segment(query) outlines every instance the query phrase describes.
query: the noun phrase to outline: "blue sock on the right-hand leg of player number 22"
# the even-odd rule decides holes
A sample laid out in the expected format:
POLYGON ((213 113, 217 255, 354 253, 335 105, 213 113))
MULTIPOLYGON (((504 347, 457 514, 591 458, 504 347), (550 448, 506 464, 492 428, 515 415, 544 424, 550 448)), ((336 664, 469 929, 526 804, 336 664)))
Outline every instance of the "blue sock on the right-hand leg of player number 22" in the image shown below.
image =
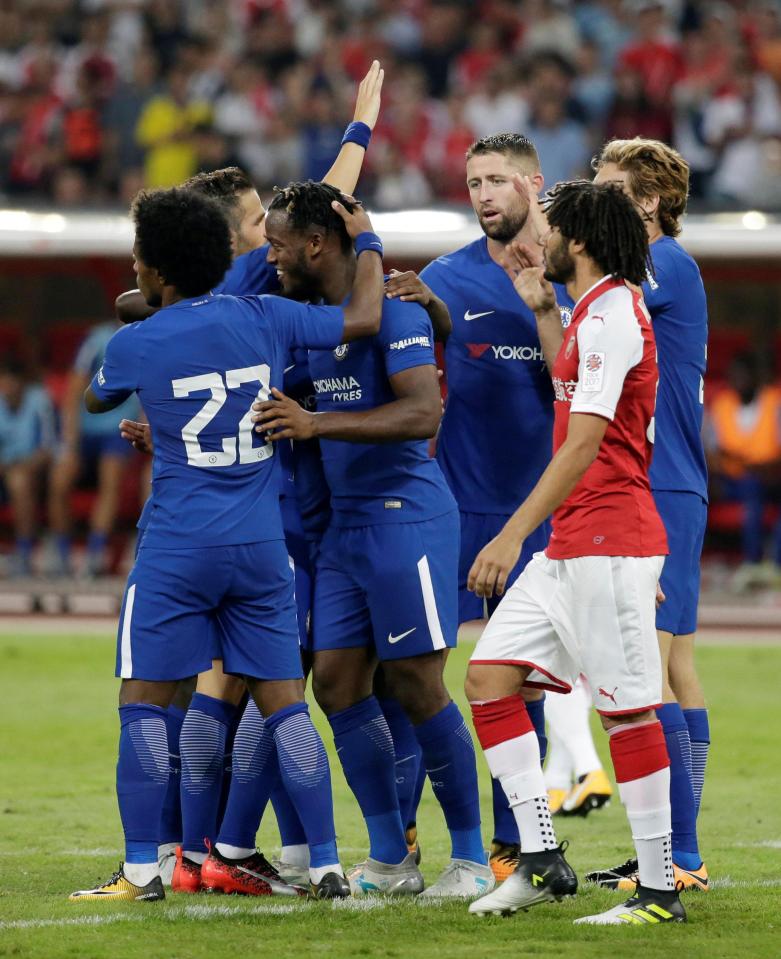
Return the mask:
MULTIPOLYGON (((338 864, 331 770, 323 741, 306 703, 294 703, 266 719, 279 769, 309 843, 310 868, 338 864)), ((339 867, 341 869, 341 867, 339 867)))

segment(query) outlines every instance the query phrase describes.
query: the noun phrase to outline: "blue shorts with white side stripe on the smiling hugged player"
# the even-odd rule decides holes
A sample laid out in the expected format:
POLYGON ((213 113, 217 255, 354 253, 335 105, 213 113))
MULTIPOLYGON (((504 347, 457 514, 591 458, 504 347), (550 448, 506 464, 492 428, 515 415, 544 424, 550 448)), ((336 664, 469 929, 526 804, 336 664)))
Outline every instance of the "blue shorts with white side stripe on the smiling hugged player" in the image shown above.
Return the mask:
POLYGON ((422 523, 331 526, 317 560, 314 650, 373 646, 381 660, 456 645, 458 512, 422 523))

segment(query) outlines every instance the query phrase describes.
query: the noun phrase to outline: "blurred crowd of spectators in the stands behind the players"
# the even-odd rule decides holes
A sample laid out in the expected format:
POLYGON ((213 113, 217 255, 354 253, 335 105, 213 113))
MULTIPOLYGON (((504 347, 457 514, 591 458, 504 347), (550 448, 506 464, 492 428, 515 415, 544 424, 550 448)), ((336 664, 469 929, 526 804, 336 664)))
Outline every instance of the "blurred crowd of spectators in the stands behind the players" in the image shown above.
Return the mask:
POLYGON ((781 208, 771 0, 0 0, 0 195, 125 205, 237 163, 319 179, 386 70, 361 192, 463 202, 477 137, 523 131, 546 180, 606 138, 674 144, 695 203, 781 208))

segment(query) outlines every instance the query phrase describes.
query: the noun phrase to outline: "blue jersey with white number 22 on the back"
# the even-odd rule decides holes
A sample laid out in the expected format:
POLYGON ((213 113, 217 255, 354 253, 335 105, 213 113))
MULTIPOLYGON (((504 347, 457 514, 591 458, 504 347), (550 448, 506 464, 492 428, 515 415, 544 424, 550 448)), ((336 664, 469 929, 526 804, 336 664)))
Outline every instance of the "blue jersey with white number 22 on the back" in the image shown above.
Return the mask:
POLYGON ((282 538, 274 446, 252 404, 282 388, 290 350, 342 339, 341 307, 276 296, 180 300, 113 337, 92 390, 136 392, 155 438, 144 545, 230 546, 282 538))

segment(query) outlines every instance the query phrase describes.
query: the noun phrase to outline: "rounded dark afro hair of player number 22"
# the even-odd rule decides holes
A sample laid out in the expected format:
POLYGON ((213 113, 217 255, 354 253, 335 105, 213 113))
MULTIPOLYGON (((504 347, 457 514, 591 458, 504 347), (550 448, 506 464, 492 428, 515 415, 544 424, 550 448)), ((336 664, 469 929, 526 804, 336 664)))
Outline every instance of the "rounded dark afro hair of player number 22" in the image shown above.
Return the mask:
POLYGON ((231 265, 231 235, 219 203, 193 190, 141 190, 130 215, 138 255, 182 296, 217 286, 231 265))

